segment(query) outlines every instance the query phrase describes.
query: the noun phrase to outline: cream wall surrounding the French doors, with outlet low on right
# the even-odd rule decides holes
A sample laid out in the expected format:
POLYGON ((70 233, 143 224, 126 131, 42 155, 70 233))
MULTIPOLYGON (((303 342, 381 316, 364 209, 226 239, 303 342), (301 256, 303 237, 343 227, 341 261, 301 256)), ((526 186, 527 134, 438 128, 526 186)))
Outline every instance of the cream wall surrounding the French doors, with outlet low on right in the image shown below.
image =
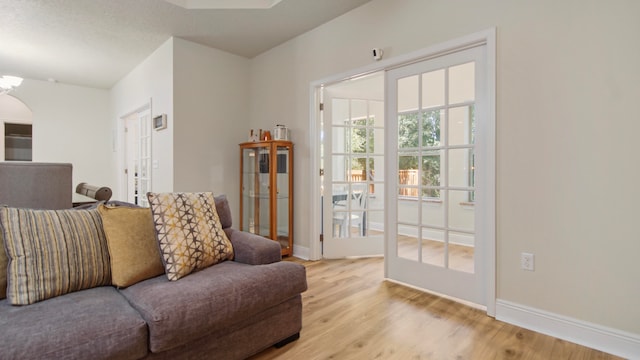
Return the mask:
POLYGON ((251 62, 250 127, 295 143, 308 246, 312 81, 497 27, 498 298, 640 334, 640 3, 373 0, 251 62), (520 253, 536 271, 520 270, 520 253))

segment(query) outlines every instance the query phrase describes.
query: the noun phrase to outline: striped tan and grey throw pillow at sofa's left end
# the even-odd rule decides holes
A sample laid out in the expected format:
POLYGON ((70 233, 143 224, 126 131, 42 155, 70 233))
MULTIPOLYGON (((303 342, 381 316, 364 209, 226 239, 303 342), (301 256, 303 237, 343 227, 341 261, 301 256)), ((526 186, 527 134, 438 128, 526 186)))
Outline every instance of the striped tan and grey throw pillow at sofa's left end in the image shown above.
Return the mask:
POLYGON ((7 300, 27 305, 111 283, 97 210, 0 209, 9 265, 7 300))

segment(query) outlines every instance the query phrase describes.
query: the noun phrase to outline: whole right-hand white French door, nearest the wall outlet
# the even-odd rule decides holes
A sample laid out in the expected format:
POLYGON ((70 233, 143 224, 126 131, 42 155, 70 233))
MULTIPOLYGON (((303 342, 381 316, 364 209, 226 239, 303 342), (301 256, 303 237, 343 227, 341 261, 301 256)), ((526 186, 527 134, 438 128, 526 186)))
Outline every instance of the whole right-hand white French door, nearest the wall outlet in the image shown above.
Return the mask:
POLYGON ((486 305, 477 231, 485 184, 486 46, 389 70, 389 279, 486 305))

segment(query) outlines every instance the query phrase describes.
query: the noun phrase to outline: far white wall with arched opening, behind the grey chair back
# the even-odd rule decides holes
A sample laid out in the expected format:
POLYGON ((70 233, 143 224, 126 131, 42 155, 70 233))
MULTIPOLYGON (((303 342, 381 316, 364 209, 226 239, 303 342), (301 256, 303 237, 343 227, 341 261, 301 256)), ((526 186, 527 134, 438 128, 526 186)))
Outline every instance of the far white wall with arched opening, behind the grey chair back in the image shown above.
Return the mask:
POLYGON ((107 90, 25 79, 11 95, 33 112, 33 161, 73 164, 74 187, 116 185, 107 90))

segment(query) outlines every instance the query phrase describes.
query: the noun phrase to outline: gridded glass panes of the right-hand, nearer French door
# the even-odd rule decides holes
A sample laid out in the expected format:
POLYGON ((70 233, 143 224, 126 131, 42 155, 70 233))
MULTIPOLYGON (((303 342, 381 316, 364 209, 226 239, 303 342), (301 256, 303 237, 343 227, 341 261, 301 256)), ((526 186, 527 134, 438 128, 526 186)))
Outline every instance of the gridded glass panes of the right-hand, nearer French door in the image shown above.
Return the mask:
POLYGON ((474 62, 397 79, 398 242, 407 258, 473 272, 474 62), (445 96, 447 94, 448 96, 445 96), (455 103, 453 103, 455 101, 455 103), (416 207, 417 205, 417 207, 416 207), (420 216, 407 216, 416 213, 420 216), (453 231, 456 231, 455 233, 453 231), (455 236, 454 236, 455 235, 455 236), (415 237, 415 240, 410 238, 415 237), (464 241, 462 241, 464 240, 464 241), (460 259, 458 254, 463 254, 460 259), (462 265, 466 261, 467 265, 462 265))

